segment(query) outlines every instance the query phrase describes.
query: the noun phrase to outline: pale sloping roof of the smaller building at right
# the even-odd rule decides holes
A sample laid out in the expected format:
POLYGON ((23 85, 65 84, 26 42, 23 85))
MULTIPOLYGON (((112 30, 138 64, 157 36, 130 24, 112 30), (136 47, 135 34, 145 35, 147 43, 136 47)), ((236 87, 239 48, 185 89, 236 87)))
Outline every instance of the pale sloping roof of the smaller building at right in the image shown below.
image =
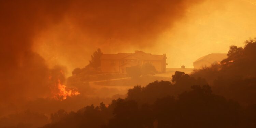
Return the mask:
POLYGON ((200 57, 193 63, 199 62, 201 60, 207 61, 209 63, 214 63, 215 61, 222 61, 225 58, 227 58, 226 53, 212 53, 212 54, 208 54, 203 57, 200 57))

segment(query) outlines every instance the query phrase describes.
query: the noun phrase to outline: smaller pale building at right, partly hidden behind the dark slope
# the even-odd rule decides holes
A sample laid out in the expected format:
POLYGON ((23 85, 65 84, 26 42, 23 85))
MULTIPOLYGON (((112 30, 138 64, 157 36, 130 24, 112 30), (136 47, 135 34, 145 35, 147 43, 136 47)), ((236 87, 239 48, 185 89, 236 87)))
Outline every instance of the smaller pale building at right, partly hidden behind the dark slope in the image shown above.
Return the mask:
POLYGON ((226 58, 227 58, 226 53, 212 53, 197 59, 195 62, 193 62, 193 66, 195 69, 200 69, 202 67, 209 67, 212 64, 219 63, 226 58))

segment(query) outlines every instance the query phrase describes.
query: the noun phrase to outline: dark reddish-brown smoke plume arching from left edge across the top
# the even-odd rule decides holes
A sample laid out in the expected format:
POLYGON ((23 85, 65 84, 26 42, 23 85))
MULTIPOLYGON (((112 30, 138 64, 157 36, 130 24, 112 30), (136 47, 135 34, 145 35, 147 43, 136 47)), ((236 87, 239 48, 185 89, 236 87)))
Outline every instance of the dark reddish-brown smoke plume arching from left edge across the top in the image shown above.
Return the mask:
POLYGON ((136 41, 153 40, 199 1, 0 1, 1 108, 51 95, 53 70, 32 51, 34 38, 42 31, 66 21, 102 45, 111 38, 131 42, 126 45, 151 45, 136 41))

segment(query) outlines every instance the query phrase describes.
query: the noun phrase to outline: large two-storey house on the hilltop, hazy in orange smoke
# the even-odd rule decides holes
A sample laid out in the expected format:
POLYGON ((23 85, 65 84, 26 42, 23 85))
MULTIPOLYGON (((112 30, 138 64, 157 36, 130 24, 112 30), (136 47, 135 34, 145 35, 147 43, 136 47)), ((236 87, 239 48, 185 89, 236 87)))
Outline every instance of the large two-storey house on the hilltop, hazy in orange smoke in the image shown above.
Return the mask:
POLYGON ((153 55, 142 51, 134 53, 102 54, 101 71, 105 73, 126 73, 126 68, 151 63, 157 72, 166 71, 166 54, 153 55))

